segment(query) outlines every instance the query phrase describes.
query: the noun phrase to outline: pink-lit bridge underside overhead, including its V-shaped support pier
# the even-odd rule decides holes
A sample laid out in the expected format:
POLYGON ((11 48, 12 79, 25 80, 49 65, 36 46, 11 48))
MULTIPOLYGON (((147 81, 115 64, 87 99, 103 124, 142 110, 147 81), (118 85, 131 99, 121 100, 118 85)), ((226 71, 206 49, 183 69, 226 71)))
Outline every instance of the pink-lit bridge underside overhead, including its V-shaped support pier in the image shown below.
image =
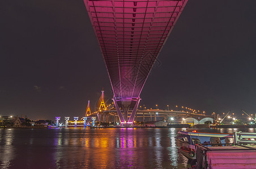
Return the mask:
POLYGON ((140 92, 186 2, 84 0, 122 123, 134 121, 140 92))

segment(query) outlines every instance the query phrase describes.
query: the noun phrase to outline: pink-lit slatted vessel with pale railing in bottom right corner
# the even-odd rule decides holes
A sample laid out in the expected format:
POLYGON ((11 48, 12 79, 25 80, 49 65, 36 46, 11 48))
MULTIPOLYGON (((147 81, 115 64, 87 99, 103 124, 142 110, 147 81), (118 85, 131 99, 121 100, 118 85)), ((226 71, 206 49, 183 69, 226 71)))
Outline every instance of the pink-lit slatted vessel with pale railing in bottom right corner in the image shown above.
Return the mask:
POLYGON ((195 168, 256 168, 256 133, 238 131, 233 136, 229 146, 195 145, 195 168))

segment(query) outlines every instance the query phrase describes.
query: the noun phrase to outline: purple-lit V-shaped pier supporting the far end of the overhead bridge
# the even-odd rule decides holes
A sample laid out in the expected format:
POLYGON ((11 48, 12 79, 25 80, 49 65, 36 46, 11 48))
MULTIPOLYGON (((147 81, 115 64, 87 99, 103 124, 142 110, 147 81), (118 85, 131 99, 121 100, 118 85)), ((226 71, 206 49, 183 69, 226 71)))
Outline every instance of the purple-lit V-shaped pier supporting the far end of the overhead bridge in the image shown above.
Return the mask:
POLYGON ((118 113, 118 117, 120 119, 121 124, 125 124, 125 123, 129 123, 132 124, 134 122, 134 117, 136 114, 136 110, 138 108, 139 105, 139 101, 140 98, 129 98, 129 97, 122 97, 122 98, 115 98, 112 99, 114 101, 114 105, 116 106, 116 110, 118 113), (131 107, 132 104, 135 105, 134 107, 131 107), (125 115, 125 117, 123 117, 121 109, 120 109, 120 105, 121 105, 121 109, 123 110, 123 114, 125 115), (130 118, 127 119, 128 113, 129 113, 129 109, 133 108, 133 111, 131 112, 130 118))

